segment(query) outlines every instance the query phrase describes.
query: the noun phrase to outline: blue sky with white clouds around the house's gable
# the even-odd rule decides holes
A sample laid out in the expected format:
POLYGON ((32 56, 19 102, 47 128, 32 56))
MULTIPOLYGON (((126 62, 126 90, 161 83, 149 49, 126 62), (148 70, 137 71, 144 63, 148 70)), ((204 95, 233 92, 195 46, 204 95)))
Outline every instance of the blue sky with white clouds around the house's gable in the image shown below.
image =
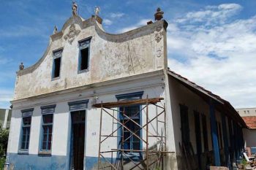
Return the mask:
MULTIPOLYGON (((221 0, 78 0, 79 15, 101 8, 103 25, 121 33, 154 20, 162 7, 167 28, 168 66, 234 107, 256 107, 256 1, 221 0)), ((12 0, 0 6, 0 108, 8 108, 15 72, 23 61, 42 57, 53 27, 72 15, 72 1, 12 0)))

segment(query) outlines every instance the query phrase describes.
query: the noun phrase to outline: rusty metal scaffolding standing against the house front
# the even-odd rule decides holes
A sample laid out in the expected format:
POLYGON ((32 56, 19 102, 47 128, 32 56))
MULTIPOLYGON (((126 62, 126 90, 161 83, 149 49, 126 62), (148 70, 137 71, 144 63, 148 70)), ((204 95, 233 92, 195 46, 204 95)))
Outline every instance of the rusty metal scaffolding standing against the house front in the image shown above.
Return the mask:
MULTIPOLYGON (((160 102, 163 99, 164 98, 145 98, 93 105, 93 107, 101 108, 98 169, 164 169, 164 157, 167 150, 165 104, 160 102), (140 110, 136 112, 135 115, 131 116, 126 114, 125 109, 120 110, 120 108, 135 105, 141 106, 140 110), (148 112, 149 107, 150 115, 148 112), (144 123, 137 123, 133 120, 133 118, 139 114, 141 115, 140 118, 146 118, 144 123), (121 121, 118 118, 120 115, 125 117, 125 120, 121 121), (106 132, 106 128, 102 125, 103 116, 105 116, 104 120, 108 118, 112 119, 113 125, 110 132, 106 132), (132 130, 131 127, 127 125, 129 122, 134 123, 139 128, 136 129, 136 131, 134 129, 132 130), (104 131, 103 133, 108 134, 102 134, 102 129, 104 131), (124 131, 129 131, 130 135, 124 138, 124 131), (141 131, 143 131, 143 135, 138 135, 138 132, 140 133, 141 131), (140 150, 127 150, 124 148, 124 143, 133 136, 140 140, 140 150), (104 142, 107 142, 110 138, 115 138, 116 141, 120 141, 119 144, 116 144, 116 148, 106 149, 106 147, 102 147, 104 142), (132 155, 140 156, 139 159, 135 159, 132 155)), ((108 144, 110 144, 110 141, 108 142, 108 144)), ((114 145, 115 144, 113 144, 113 146, 114 145)))

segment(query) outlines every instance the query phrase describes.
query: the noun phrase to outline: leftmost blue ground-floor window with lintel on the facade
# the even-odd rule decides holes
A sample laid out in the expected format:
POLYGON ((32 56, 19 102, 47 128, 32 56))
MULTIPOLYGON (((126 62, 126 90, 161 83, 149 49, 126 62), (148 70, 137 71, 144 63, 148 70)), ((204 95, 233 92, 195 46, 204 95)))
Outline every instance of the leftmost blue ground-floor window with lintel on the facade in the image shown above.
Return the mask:
POLYGON ((29 139, 30 139, 30 127, 31 127, 31 116, 34 109, 22 110, 22 133, 21 133, 21 144, 20 150, 29 150, 29 139))

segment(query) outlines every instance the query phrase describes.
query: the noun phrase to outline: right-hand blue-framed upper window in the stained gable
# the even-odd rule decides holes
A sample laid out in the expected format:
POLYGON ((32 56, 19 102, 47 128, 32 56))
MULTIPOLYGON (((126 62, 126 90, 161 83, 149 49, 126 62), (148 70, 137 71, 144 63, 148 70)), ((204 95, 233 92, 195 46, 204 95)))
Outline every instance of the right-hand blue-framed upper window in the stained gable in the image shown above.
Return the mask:
POLYGON ((79 42, 78 73, 89 70, 90 44, 91 37, 79 42))

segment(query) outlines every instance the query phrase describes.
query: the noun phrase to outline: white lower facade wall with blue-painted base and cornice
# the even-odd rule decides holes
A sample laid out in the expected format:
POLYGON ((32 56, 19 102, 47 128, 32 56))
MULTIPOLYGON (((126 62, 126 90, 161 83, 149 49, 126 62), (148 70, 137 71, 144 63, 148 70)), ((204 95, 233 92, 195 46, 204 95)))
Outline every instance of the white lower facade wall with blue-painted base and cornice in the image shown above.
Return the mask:
MULTIPOLYGON (((120 81, 120 80, 119 80, 120 81)), ((14 164, 18 169, 69 169, 69 146, 71 133, 71 117, 69 113, 69 101, 80 101, 89 99, 88 109, 86 109, 86 142, 85 142, 85 160, 86 169, 97 167, 97 156, 99 149, 99 119, 100 109, 92 108, 94 104, 94 95, 98 96, 97 103, 117 101, 117 94, 134 93, 143 91, 142 98, 164 97, 165 94, 165 75, 163 71, 148 73, 145 75, 136 75, 129 77, 122 82, 112 80, 111 85, 99 85, 99 87, 88 88, 86 90, 72 91, 56 96, 48 94, 44 97, 23 99, 15 101, 13 105, 12 123, 10 128, 10 139, 8 143, 7 162, 14 164), (49 104, 56 104, 56 112, 53 115, 53 144, 51 157, 40 157, 38 155, 41 141, 41 109, 40 107, 49 104), (19 155, 20 131, 21 131, 21 112, 22 109, 34 108, 31 118, 31 138, 29 143, 29 155, 19 155)), ((163 100, 159 105, 163 106, 166 101, 163 100)), ((159 112, 158 112, 159 113, 159 112)), ((149 117, 156 116, 156 108, 148 108, 149 117)), ((105 114, 102 117, 102 134, 110 134, 113 131, 113 119, 105 114)), ((146 113, 142 113, 142 123, 146 123, 146 113)), ((114 127, 115 128, 115 127, 114 127)), ((156 120, 148 126, 149 131, 156 131, 156 120)), ((172 128, 172 127, 168 127, 172 128)), ((159 125, 159 131, 162 131, 159 125)), ((143 137, 146 139, 146 133, 143 131, 143 137)), ((116 138, 110 138, 102 144, 102 150, 111 150, 116 148, 118 141, 116 138)), ((155 140, 149 141, 149 147, 156 144, 155 140)), ((143 144, 145 149, 146 144, 143 144)), ((110 155, 105 155, 110 158, 110 155)), ((114 156, 115 158, 115 156, 114 156)))

